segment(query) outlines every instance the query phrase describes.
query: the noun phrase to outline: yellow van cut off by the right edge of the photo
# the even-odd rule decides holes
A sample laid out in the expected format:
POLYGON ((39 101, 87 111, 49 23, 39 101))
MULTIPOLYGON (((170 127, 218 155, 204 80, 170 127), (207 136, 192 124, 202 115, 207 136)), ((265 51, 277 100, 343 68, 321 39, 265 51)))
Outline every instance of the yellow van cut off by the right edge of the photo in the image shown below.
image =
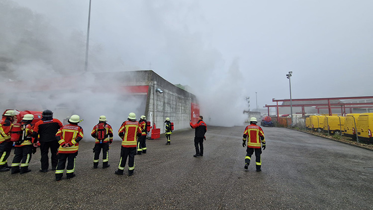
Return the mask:
POLYGON ((373 113, 362 113, 359 115, 358 122, 356 123, 359 140, 373 142, 373 113))

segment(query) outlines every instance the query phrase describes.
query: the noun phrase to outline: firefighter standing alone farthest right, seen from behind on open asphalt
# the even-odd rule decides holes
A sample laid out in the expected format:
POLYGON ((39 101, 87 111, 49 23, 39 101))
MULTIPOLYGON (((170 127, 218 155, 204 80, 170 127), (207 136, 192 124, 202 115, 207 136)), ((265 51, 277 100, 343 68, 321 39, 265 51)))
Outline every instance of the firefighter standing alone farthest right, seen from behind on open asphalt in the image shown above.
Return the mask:
POLYGON ((257 125, 258 121, 256 117, 250 118, 250 125, 246 126, 244 135, 243 135, 243 142, 242 146, 246 146, 246 139, 247 141, 247 149, 246 149, 246 157, 245 157, 245 169, 248 169, 248 166, 250 164, 251 155, 255 151, 255 162, 257 171, 262 171, 262 159, 260 155, 262 154, 261 146, 263 144, 263 150, 266 149, 266 140, 264 139, 264 132, 260 126, 257 125), (262 142, 262 144, 261 144, 262 142))

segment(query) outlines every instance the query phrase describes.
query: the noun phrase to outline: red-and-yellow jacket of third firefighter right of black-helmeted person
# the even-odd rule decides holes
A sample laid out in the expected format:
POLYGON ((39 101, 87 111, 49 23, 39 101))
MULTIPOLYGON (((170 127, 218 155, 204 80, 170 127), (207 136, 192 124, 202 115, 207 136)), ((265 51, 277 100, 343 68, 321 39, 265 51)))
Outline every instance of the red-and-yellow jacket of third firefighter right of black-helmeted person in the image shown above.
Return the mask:
POLYGON ((122 138, 122 147, 136 147, 137 137, 140 137, 141 133, 138 121, 124 121, 118 130, 118 135, 122 138))

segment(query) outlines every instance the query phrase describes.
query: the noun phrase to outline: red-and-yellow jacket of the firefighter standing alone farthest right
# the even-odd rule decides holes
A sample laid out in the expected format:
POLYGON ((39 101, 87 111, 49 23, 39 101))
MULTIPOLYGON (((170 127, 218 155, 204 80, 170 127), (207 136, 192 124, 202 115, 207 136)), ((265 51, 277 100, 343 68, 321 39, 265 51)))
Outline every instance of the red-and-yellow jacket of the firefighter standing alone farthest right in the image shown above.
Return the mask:
POLYGON ((246 126, 243 141, 247 141, 247 147, 250 148, 260 148, 262 146, 261 143, 266 144, 266 140, 264 139, 264 132, 262 128, 256 124, 250 124, 246 126))

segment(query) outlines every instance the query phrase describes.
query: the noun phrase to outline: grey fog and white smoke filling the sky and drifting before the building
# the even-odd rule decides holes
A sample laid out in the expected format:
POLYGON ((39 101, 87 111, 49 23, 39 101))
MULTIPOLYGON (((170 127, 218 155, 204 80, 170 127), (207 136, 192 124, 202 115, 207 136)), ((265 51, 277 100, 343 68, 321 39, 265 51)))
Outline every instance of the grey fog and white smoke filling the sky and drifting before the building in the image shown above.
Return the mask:
MULTIPOLYGON (((81 77, 88 5, 0 0, 1 81, 81 77)), ((246 97, 256 108, 255 92, 259 108, 272 98, 288 99, 288 71, 293 99, 370 96, 372 6, 370 0, 93 0, 87 75, 152 69, 190 86, 200 114, 226 126, 245 118, 246 97)), ((50 109, 73 105, 85 123, 110 112, 115 124, 141 103, 114 93, 105 95, 110 103, 97 102, 91 87, 99 81, 87 75, 75 93, 32 96, 30 102, 50 109)), ((7 98, 1 108, 22 106, 15 96, 7 98)))

